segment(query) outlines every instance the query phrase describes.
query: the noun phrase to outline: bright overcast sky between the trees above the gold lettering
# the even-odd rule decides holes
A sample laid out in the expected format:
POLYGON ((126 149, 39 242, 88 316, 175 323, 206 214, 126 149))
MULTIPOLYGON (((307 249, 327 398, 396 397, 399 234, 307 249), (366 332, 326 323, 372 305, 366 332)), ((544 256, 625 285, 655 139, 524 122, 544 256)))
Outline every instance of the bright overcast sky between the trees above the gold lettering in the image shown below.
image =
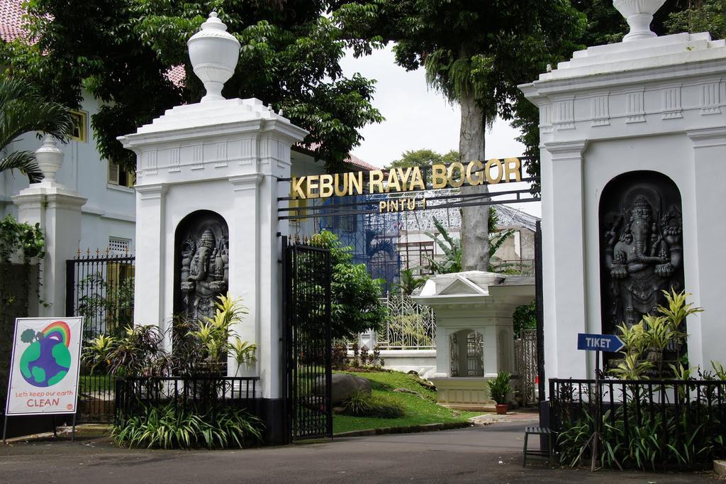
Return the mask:
MULTIPOLYGON (((428 148, 446 153, 459 149, 459 106, 449 104, 441 93, 426 86, 423 69, 406 72, 400 68, 390 46, 359 59, 347 55, 340 65, 346 76, 359 72, 378 81, 373 105, 386 118, 361 130, 364 140, 353 150, 358 158, 384 166, 407 150, 428 148)), ((485 158, 521 156, 523 146, 515 140, 518 135, 508 123, 495 122, 486 133, 485 158)), ((539 203, 518 206, 540 216, 539 203)))

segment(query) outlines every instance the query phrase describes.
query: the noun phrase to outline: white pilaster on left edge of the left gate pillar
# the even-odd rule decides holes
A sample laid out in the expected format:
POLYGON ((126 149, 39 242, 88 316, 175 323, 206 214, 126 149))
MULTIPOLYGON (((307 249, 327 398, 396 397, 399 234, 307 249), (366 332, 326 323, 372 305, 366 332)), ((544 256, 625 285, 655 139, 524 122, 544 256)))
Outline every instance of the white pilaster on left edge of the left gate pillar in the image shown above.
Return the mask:
MULTIPOLYGON (((164 227, 166 185, 136 187, 136 274, 134 323, 164 327, 164 274, 160 261, 166 259, 164 227)), ((171 284, 173 280, 169 280, 171 284)), ((168 340, 168 338, 167 338, 168 340)), ((165 342, 171 349, 171 341, 165 342)))

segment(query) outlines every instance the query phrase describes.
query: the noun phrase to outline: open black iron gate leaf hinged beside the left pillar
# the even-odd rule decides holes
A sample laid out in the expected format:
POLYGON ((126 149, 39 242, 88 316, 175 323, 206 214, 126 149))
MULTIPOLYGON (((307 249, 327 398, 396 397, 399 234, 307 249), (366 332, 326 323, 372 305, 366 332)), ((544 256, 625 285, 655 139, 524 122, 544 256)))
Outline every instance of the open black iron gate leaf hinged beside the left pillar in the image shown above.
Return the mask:
POLYGON ((333 437, 330 251, 282 238, 287 435, 333 437))

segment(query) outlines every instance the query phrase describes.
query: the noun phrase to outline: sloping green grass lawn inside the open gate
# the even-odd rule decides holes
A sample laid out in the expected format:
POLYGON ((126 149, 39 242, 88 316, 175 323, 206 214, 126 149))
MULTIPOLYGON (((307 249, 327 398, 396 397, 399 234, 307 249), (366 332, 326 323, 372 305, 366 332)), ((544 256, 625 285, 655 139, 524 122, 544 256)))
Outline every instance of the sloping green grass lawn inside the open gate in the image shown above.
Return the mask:
POLYGON ((376 395, 386 395, 388 398, 398 400, 406 409, 406 416, 399 419, 334 415, 333 433, 336 434, 351 430, 377 429, 380 427, 407 427, 421 424, 466 422, 472 416, 481 415, 481 412, 460 412, 459 416, 454 416, 454 411, 451 409, 436 405, 436 392, 421 386, 401 371, 382 371, 377 373, 337 371, 336 373, 348 373, 369 379, 374 397, 376 395), (410 393, 393 392, 396 388, 407 388, 419 392, 426 399, 424 400, 410 393))

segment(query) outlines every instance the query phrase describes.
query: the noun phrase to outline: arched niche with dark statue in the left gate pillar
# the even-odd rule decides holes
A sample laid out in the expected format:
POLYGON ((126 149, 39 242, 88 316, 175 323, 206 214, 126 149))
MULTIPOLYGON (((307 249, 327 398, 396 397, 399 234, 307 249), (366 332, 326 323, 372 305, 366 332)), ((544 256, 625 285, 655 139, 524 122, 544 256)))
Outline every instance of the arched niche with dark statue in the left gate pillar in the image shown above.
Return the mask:
POLYGON ((197 210, 174 233, 174 313, 211 316, 229 287, 229 228, 220 214, 197 210))

